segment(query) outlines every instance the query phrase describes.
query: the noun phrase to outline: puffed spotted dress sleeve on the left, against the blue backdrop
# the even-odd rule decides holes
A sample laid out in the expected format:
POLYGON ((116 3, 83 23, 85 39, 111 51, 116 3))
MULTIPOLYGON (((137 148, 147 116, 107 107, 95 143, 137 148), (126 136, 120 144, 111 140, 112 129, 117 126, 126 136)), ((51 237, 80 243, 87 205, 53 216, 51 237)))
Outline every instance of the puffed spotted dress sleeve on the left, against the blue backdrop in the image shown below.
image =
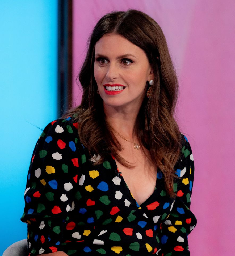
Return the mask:
POLYGON ((30 255, 60 250, 64 224, 73 209, 73 187, 79 169, 78 136, 76 124, 68 119, 49 123, 33 151, 21 217, 28 224, 30 255))

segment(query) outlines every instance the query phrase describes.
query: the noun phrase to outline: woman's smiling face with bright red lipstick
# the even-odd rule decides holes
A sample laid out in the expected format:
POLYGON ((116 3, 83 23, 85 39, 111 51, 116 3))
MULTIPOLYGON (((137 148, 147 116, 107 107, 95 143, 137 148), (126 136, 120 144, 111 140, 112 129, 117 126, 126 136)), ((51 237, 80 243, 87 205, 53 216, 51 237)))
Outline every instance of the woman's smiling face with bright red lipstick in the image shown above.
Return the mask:
POLYGON ((112 107, 140 107, 146 82, 154 79, 144 50, 113 33, 96 42, 94 77, 104 105, 112 107))

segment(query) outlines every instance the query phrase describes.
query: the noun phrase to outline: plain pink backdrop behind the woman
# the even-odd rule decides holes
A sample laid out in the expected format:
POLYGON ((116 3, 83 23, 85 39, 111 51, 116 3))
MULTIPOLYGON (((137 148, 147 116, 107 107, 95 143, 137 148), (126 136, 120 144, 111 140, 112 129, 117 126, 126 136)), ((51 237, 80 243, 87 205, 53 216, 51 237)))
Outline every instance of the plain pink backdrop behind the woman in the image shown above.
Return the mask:
MULTIPOLYGON (((235 251, 234 0, 73 1, 73 99, 75 83, 96 22, 112 10, 139 9, 161 26, 180 84, 176 112, 195 160, 191 210, 198 225, 189 235, 192 256, 235 251)), ((130 21, 131 22, 131 21, 130 21)))

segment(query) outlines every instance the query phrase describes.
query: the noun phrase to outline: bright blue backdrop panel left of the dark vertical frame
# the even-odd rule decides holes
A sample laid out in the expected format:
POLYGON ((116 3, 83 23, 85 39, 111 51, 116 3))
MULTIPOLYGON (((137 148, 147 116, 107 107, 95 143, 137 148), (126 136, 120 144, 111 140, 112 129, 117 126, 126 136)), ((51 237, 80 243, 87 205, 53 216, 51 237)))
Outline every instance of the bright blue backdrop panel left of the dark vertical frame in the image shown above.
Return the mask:
POLYGON ((38 128, 57 118, 57 1, 0 0, 0 255, 20 221, 38 128))

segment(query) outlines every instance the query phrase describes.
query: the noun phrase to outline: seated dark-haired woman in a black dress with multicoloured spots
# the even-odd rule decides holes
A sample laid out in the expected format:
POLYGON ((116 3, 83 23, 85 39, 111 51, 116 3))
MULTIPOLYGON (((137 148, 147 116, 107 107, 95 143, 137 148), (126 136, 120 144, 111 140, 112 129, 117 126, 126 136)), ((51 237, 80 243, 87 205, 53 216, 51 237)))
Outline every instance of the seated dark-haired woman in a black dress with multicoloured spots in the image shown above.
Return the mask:
POLYGON ((137 10, 102 17, 79 81, 81 105, 49 123, 33 153, 30 255, 190 255, 194 163, 159 25, 137 10))

